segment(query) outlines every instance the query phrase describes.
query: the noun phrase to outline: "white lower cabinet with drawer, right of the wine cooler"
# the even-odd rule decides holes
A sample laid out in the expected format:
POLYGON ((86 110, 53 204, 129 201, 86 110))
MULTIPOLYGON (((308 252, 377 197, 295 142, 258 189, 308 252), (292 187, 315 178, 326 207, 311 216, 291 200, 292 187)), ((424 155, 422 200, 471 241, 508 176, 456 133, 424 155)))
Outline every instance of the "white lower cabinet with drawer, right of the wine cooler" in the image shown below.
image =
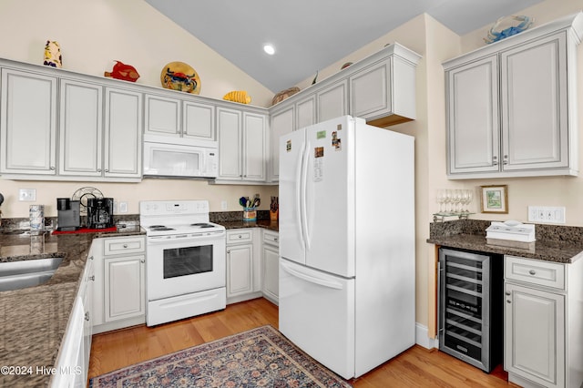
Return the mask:
POLYGON ((557 388, 583 383, 583 260, 578 261, 506 256, 504 368, 510 382, 557 388))

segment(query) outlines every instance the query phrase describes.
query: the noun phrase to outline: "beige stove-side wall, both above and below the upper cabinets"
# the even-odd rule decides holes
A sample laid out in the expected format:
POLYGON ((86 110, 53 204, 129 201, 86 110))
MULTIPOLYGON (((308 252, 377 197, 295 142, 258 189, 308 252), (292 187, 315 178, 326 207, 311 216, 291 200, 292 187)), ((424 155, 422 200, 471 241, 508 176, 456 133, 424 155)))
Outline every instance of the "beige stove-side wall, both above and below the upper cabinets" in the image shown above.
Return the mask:
MULTIPOLYGON (((160 87, 160 71, 172 61, 193 66, 201 79, 200 95, 222 98, 235 89, 248 90, 253 104, 267 107, 273 93, 233 66, 142 0, 2 0, 0 57, 42 64, 46 39, 61 46, 63 67, 102 77, 117 59, 138 69, 138 84, 160 87)), ((13 181, 0 178, 5 218, 27 217, 31 202, 18 201, 18 189, 36 189, 36 202, 46 215, 56 216, 56 198, 71 197, 82 187, 128 202, 138 213, 140 199, 209 199, 211 211, 240 210, 239 197, 261 194, 261 209, 269 209, 277 187, 213 186, 204 180, 144 179, 137 184, 99 182, 13 181)))

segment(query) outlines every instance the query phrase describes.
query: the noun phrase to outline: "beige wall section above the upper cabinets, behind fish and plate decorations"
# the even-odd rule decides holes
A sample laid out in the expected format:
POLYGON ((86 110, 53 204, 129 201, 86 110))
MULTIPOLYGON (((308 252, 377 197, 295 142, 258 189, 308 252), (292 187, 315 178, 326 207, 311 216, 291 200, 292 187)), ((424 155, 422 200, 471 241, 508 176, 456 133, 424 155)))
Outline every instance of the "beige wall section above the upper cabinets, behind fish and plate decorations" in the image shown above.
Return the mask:
POLYGON ((199 73, 200 96, 247 90, 269 107, 273 93, 143 0, 2 0, 0 57, 43 63, 46 40, 61 46, 63 67, 103 77, 114 60, 135 66, 138 84, 160 86, 162 68, 186 62, 199 73))

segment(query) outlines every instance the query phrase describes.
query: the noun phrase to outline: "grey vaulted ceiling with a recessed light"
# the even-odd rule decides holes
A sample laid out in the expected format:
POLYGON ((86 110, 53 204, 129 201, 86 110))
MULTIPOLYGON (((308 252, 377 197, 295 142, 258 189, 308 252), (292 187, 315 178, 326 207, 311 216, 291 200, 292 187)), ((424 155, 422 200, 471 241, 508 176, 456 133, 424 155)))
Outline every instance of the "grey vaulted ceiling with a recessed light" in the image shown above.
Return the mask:
POLYGON ((427 13, 462 36, 541 1, 146 0, 273 92, 315 75, 416 15, 427 13), (263 51, 265 44, 275 47, 273 56, 263 51))

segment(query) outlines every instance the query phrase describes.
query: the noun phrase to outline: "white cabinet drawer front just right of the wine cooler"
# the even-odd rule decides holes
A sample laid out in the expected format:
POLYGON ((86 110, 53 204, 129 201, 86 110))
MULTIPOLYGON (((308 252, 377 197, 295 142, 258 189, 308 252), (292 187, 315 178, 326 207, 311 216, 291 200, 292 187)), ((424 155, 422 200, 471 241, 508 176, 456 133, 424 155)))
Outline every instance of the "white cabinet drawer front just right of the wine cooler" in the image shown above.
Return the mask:
POLYGON ((565 290, 565 265, 557 262, 505 256, 504 276, 506 280, 565 290))

